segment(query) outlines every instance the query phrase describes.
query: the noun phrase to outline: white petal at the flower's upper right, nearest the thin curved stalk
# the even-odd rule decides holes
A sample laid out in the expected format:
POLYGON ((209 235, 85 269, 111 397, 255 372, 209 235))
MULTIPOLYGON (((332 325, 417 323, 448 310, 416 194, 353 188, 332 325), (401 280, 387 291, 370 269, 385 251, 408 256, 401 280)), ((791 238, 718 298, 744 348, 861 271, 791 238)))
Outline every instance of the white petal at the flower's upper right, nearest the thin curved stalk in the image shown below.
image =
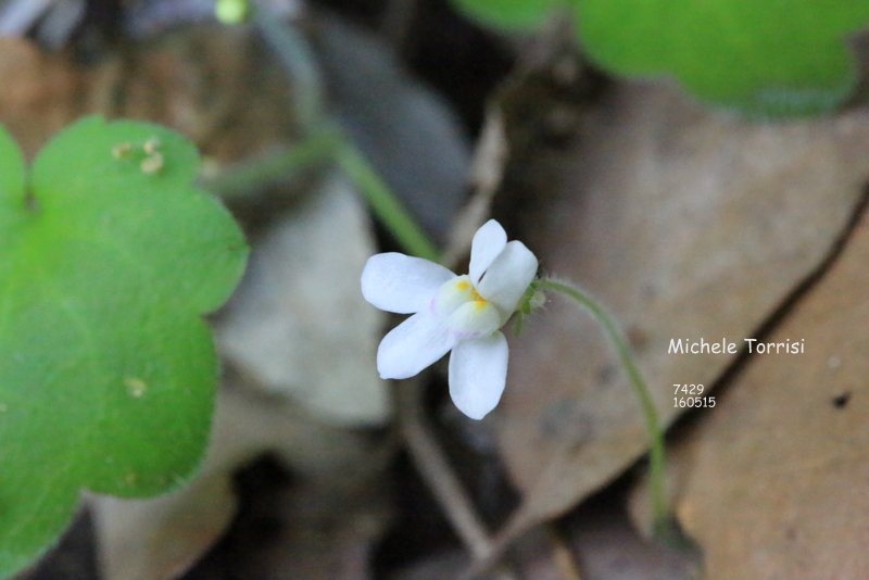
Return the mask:
POLYGON ((538 261, 531 250, 514 240, 504 247, 486 270, 486 276, 477 285, 477 292, 498 306, 502 316, 509 318, 534 279, 537 267, 538 261))

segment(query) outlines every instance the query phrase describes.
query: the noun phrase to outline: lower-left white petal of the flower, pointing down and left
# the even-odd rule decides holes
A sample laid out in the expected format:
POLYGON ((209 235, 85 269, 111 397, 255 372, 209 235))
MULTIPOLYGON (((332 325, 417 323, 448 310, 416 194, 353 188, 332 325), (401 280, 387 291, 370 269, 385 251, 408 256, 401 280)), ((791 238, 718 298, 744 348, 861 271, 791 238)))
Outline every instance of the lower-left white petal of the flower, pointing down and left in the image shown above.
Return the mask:
POLYGON ((377 349, 377 371, 383 379, 406 379, 446 354, 456 342, 428 308, 393 328, 377 349))

